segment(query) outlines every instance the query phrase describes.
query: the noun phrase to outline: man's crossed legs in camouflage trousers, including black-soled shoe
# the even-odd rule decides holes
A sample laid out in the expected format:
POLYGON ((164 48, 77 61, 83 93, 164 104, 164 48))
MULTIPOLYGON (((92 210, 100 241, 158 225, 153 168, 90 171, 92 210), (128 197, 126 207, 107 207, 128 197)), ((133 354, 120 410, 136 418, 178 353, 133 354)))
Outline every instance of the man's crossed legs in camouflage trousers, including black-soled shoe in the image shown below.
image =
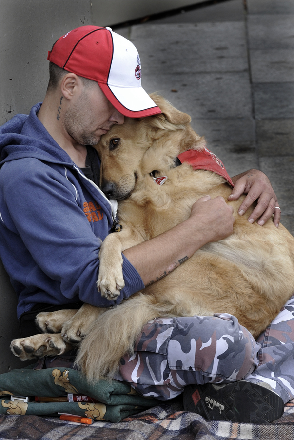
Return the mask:
POLYGON ((186 409, 208 419, 273 421, 293 396, 288 386, 293 381, 293 368, 289 366, 293 314, 289 301, 281 314, 265 332, 267 337, 258 339, 262 346, 228 314, 154 320, 137 339, 134 356, 124 358, 116 379, 128 381, 144 396, 160 400, 172 399, 185 388, 186 409), (274 346, 280 346, 278 364, 274 346), (259 349, 261 357, 257 360, 259 349), (277 385, 272 383, 269 389, 268 380, 273 377, 277 385))

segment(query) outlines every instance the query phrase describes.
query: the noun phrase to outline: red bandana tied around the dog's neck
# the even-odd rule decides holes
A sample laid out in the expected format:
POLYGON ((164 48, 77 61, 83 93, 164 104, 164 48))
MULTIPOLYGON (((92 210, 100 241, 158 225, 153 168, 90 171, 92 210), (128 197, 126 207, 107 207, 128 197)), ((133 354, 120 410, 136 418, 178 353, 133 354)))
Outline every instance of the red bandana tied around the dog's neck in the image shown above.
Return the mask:
POLYGON ((189 163, 194 170, 208 170, 219 174, 234 187, 234 183, 228 175, 222 161, 207 148, 204 147, 203 150, 187 150, 184 151, 184 153, 179 154, 177 157, 181 163, 189 163))

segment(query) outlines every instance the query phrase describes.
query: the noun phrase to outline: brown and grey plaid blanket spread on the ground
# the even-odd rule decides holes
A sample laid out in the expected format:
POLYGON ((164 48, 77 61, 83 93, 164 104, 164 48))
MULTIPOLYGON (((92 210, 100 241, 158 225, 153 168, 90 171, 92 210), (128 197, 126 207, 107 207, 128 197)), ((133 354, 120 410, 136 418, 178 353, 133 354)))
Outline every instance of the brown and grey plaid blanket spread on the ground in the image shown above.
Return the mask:
POLYGON ((127 417, 92 425, 44 416, 1 416, 1 439, 291 439, 293 400, 284 415, 268 425, 207 421, 183 411, 181 398, 127 417))

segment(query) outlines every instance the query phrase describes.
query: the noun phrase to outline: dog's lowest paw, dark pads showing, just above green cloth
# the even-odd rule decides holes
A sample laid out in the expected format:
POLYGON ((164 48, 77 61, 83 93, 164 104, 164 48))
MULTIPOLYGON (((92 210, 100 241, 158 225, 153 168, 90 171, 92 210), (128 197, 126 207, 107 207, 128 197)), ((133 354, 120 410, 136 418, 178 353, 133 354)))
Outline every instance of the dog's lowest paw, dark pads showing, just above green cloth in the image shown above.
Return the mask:
POLYGON ((57 356, 65 352, 68 347, 60 333, 40 334, 19 338, 11 341, 10 349, 20 360, 57 356))

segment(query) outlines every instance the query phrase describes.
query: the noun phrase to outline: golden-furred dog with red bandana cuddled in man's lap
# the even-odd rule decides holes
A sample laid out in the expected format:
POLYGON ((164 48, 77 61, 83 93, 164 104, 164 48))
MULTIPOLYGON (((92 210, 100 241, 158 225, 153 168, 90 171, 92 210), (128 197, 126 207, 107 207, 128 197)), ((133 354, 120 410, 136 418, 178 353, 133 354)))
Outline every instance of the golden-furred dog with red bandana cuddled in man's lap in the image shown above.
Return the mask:
MULTIPOLYGON (((102 161, 101 188, 118 200, 123 226, 104 240, 99 254, 98 288, 108 299, 118 296, 124 286, 123 250, 186 220, 193 203, 202 196, 222 196, 227 201, 232 191, 214 172, 194 171, 187 163, 175 166, 180 153, 205 148, 205 140, 191 128, 189 115, 162 97, 151 96, 162 114, 126 118, 96 147, 102 161), (158 176, 167 180, 158 185, 154 181, 158 176)), ((253 207, 239 216, 244 197, 227 202, 234 208, 231 236, 206 244, 167 277, 116 307, 105 310, 85 304, 77 313, 40 313, 37 322, 42 330, 50 328, 61 334, 49 335, 52 339, 43 345, 48 334, 15 340, 14 354, 28 359, 24 347, 39 356, 52 355, 54 350, 60 353, 68 348, 69 340, 86 335, 76 364, 95 381, 117 370, 120 359, 132 353, 144 324, 157 317, 226 312, 257 337, 293 293, 293 237, 281 224, 276 228, 271 219, 262 227, 249 223, 253 207)))

